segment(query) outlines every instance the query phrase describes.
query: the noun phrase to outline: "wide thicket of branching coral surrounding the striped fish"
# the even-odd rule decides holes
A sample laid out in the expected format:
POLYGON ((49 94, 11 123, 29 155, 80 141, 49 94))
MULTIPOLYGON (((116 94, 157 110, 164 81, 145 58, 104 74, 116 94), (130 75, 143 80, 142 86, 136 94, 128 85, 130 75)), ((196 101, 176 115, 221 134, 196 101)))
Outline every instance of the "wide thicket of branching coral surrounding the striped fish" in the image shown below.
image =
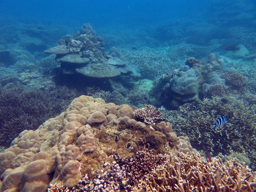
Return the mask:
POLYGON ((255 105, 229 96, 228 102, 220 97, 204 98, 194 106, 185 104, 178 111, 168 113, 168 121, 178 135, 188 136, 192 146, 198 150, 209 150, 214 155, 219 152, 229 154, 230 150, 243 152, 256 168, 256 127, 255 105), (228 121, 222 128, 211 130, 211 123, 226 115, 228 121))

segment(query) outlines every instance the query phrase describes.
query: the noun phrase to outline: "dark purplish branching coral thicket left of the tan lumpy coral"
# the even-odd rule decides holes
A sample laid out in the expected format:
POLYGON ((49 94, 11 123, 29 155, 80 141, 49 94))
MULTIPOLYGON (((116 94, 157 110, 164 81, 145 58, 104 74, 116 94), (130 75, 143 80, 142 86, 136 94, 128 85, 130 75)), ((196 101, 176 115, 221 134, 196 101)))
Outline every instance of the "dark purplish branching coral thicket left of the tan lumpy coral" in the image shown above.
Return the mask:
POLYGON ((54 90, 0 90, 0 145, 9 147, 23 130, 36 130, 62 112, 81 93, 67 87, 54 90))

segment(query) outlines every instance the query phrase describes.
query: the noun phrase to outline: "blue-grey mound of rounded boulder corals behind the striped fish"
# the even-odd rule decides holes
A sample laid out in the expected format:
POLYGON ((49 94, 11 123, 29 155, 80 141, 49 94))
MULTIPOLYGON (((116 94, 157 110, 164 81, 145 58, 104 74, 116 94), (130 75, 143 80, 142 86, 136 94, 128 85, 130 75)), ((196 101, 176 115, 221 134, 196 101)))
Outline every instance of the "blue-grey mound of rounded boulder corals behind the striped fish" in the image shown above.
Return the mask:
POLYGON ((179 70, 164 74, 151 90, 156 106, 174 109, 182 104, 196 102, 200 94, 204 98, 227 96, 231 93, 246 93, 248 78, 225 66, 222 58, 209 54, 207 63, 188 58, 179 70), (239 89, 238 89, 239 88, 239 89))

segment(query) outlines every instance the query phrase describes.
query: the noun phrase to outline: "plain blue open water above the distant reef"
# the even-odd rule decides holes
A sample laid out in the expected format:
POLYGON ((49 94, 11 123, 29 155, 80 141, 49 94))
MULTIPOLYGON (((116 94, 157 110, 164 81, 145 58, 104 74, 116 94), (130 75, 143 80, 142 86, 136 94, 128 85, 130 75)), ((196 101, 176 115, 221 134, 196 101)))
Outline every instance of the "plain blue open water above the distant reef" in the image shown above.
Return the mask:
POLYGON ((2 16, 62 20, 116 27, 159 24, 166 21, 202 18, 211 1, 200 0, 76 0, 76 1, 1 1, 2 16))

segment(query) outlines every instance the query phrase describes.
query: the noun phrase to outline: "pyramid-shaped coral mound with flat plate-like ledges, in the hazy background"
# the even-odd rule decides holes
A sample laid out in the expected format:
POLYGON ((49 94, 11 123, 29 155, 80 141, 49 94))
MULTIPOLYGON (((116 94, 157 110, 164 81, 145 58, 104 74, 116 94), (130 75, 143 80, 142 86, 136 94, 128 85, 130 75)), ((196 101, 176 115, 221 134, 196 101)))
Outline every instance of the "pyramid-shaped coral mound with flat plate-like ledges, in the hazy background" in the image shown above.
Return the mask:
POLYGON ((140 76, 138 69, 124 60, 116 48, 105 54, 104 42, 90 24, 83 27, 74 36, 66 35, 58 46, 45 50, 56 54, 60 70, 64 74, 80 73, 95 78, 115 77, 120 74, 140 76))

